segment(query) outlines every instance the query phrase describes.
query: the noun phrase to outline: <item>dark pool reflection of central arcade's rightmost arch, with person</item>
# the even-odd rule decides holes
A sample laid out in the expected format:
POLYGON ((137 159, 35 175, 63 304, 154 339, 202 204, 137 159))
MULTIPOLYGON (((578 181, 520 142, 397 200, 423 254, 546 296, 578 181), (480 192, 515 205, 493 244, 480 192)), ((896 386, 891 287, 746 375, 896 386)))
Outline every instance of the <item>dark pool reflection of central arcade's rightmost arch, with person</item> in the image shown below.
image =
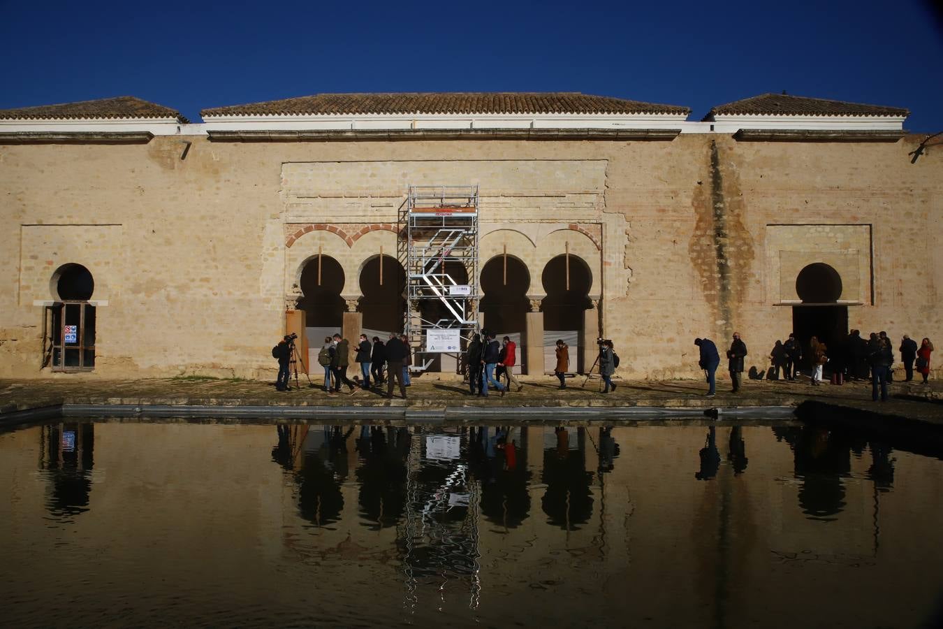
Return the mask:
MULTIPOLYGON (((578 428, 582 433, 585 428, 578 428)), ((556 433, 556 450, 546 450, 543 455, 544 491, 540 505, 548 516, 548 522, 567 531, 579 529, 578 524, 592 517, 592 493, 589 485, 593 472, 586 471, 584 453, 570 450, 570 433, 560 426, 556 433)), ((579 439, 583 445, 585 439, 579 439)))

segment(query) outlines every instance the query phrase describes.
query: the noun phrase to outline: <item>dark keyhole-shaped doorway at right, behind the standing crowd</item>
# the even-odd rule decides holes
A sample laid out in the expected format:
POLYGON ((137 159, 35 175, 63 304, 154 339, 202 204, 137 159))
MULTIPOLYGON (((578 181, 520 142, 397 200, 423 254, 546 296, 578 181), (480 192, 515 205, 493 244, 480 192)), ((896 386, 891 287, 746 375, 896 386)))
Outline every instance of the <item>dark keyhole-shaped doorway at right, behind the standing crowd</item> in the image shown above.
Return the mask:
MULTIPOLYGON (((841 275, 824 262, 814 262, 802 268, 796 276, 796 294, 802 306, 792 307, 792 328, 808 361, 809 340, 817 337, 828 346, 829 367, 842 369, 849 357, 848 306, 837 302, 841 298, 841 275)), ((809 366, 808 362, 805 365, 809 366)))

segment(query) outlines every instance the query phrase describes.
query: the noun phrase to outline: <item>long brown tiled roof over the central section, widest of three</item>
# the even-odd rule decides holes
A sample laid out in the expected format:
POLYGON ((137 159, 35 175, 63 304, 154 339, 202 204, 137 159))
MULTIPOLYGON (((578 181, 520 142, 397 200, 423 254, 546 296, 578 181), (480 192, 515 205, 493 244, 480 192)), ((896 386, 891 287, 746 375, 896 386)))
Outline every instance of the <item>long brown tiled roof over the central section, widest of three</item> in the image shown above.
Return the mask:
POLYGON ((280 101, 204 109, 211 116, 311 114, 484 114, 484 113, 667 113, 687 116, 690 108, 555 92, 428 92, 315 94, 280 101))

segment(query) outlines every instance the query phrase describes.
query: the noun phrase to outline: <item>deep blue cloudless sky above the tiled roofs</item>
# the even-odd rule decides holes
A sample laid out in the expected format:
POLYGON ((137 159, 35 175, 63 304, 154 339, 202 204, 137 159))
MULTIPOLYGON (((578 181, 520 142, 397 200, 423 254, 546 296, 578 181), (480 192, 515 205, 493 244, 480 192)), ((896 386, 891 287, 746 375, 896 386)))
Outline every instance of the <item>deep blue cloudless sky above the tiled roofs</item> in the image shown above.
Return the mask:
POLYGON ((0 0, 0 108, 134 95, 201 108, 319 92, 582 91, 714 105, 768 91, 909 108, 943 131, 943 21, 878 3, 0 0))

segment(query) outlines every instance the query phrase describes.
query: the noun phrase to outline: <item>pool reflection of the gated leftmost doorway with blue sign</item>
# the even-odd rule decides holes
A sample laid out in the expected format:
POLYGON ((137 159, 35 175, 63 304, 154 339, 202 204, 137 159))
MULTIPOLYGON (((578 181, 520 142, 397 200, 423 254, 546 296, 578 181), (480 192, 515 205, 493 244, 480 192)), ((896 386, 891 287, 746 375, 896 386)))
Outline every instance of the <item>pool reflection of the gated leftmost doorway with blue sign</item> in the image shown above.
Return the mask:
POLYGON ((88 423, 54 423, 41 429, 40 469, 46 472, 46 506, 54 516, 88 511, 94 467, 95 427, 88 423))

